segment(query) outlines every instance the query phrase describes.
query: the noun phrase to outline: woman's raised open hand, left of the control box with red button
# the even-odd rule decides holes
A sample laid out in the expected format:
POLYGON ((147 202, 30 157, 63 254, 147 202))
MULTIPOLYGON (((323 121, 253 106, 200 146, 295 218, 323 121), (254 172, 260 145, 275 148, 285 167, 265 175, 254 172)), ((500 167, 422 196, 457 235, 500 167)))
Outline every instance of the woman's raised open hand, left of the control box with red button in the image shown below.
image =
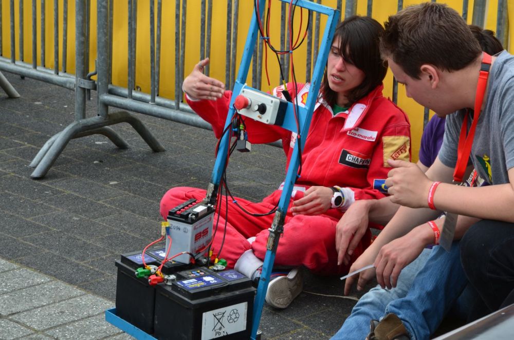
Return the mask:
POLYGON ((221 81, 204 74, 207 64, 209 64, 209 58, 200 60, 182 83, 182 90, 191 99, 216 100, 225 92, 225 85, 221 81))

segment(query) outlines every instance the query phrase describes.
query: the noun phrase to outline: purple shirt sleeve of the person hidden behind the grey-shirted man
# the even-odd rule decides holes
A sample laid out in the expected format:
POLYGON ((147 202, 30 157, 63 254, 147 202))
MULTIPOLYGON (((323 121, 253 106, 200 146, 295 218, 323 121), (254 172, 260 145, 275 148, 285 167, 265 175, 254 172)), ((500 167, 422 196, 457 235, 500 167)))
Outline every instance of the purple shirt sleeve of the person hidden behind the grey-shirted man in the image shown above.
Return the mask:
POLYGON ((445 121, 446 119, 434 115, 425 127, 423 136, 421 136, 419 161, 427 167, 430 167, 435 161, 441 144, 443 144, 445 121))

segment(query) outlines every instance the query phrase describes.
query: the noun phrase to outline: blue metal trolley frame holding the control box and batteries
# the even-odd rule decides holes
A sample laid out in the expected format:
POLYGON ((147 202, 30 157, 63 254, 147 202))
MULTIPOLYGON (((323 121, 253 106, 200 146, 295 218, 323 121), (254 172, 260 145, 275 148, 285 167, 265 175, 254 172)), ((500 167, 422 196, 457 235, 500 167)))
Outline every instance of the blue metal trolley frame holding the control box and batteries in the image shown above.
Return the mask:
MULTIPOLYGON (((291 3, 290 0, 280 0, 284 3, 291 3)), ((326 6, 322 6, 316 4, 314 2, 310 2, 307 0, 293 0, 294 5, 311 10, 313 12, 321 13, 327 15, 327 21, 325 24, 325 29, 323 32, 323 37, 321 41, 321 48, 318 53, 318 57, 316 59, 316 64, 314 66, 313 77, 311 79, 311 86, 308 91, 307 101, 305 103, 305 107, 300 107, 298 110, 299 117, 299 126, 300 126, 300 145, 303 149, 305 145, 305 138, 307 136, 307 132, 309 130, 310 121, 313 116, 314 106, 316 105, 316 101, 318 99, 318 93, 321 85, 321 79, 323 78, 323 72, 325 69, 328 52, 332 46, 332 39, 334 37, 334 30, 339 21, 339 11, 336 9, 332 9, 326 6)), ((264 5, 265 0, 259 0, 259 8, 261 16, 264 13, 264 5)), ((252 59, 253 49, 257 40, 257 36, 259 35, 259 27, 258 22, 255 15, 252 14, 252 20, 250 23, 250 27, 248 30, 248 36, 246 39, 245 49, 243 52, 243 57, 241 60, 241 66, 237 73, 237 79, 234 83, 234 88, 232 90, 232 98, 229 104, 229 111, 227 114, 227 120, 225 122, 225 127, 231 125, 231 118, 235 113, 235 109, 233 106, 235 97, 244 87, 248 87, 245 85, 245 80, 248 75, 248 70, 250 68, 250 61, 252 59)), ((283 128, 297 132, 297 125, 295 114, 293 111, 293 104, 288 103, 284 122, 281 125, 283 128)), ((227 161, 227 151, 230 144, 230 129, 229 132, 224 134, 219 142, 218 154, 216 157, 216 161, 214 163, 214 168, 212 171, 211 182, 209 183, 209 187, 207 188, 207 197, 209 203, 215 205, 216 204, 216 194, 219 188, 219 183, 221 181, 221 177, 223 174, 223 168, 227 161)), ((271 228, 269 229, 269 237, 266 245, 266 255, 264 258, 264 265, 262 268, 261 279, 259 281, 259 286, 257 288, 257 295, 255 296, 255 301, 253 305, 253 319, 252 319, 252 330, 251 330, 251 339, 256 339, 257 330, 259 328, 259 323, 261 320, 262 309, 264 306, 264 299, 266 296, 266 290, 268 289, 269 277, 271 275, 271 270, 273 268, 273 262, 275 260, 275 253, 277 251, 280 234, 283 231, 285 214, 287 212, 287 207, 289 204, 289 198, 291 197, 292 188, 295 185, 295 181, 298 174, 298 168, 300 165, 298 159, 298 143, 295 143, 295 148, 293 149, 293 153, 291 156, 291 160, 289 162, 289 166, 287 168, 287 174, 284 181, 284 187, 282 191, 282 195, 280 197, 280 201, 277 207, 277 212, 275 213, 275 217, 273 219, 273 223, 271 224, 271 228)), ((122 318, 116 315, 116 309, 109 309, 105 312, 105 319, 107 322, 112 325, 118 327, 119 329, 125 331, 126 333, 136 337, 140 340, 153 340, 155 339, 153 336, 143 332, 142 330, 136 328, 130 323, 126 322, 122 318)))

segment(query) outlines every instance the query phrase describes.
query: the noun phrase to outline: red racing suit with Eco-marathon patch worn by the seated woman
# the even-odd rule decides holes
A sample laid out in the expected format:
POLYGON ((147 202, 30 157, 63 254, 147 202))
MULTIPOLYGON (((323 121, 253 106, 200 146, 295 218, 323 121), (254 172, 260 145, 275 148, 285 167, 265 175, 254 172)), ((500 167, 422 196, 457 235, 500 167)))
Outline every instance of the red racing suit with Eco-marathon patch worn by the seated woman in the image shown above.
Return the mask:
MULTIPOLYGON (((298 93, 295 93, 291 90, 293 85, 287 84, 291 97, 297 96, 300 106, 305 104, 309 86, 310 84, 299 84, 298 93)), ((387 193, 384 182, 391 169, 387 159, 410 160, 409 120, 403 111, 382 96, 382 88, 382 85, 378 86, 347 111, 336 116, 323 100, 318 101, 302 149, 302 172, 289 202, 284 233, 276 253, 276 265, 304 265, 321 274, 342 274, 350 268, 337 266, 337 222, 354 200, 384 197, 387 193), (343 209, 329 209, 324 214, 315 216, 293 216, 290 211, 292 201, 303 197, 303 191, 313 185, 342 187, 345 194, 343 209)), ((282 97, 283 90, 283 85, 279 86, 273 89, 273 95, 282 97)), ((231 91, 225 91, 224 96, 216 101, 192 101, 188 98, 190 107, 212 124, 217 138, 223 133, 231 96, 231 91)), ((295 133, 250 118, 245 119, 245 125, 251 143, 282 140, 289 164, 297 140, 295 133)), ((240 198, 237 198, 237 202, 247 211, 263 214, 277 204, 281 194, 279 188, 262 202, 253 203, 240 198)), ((160 213, 166 219, 168 211, 176 205, 190 198, 201 200, 205 196, 206 191, 197 188, 172 188, 161 200, 160 213)), ((253 249, 255 256, 264 259, 269 234, 267 229, 271 226, 274 215, 250 216, 241 211, 231 199, 228 200, 226 215, 225 197, 218 203, 221 205, 221 213, 212 246, 214 253, 223 244, 222 253, 218 256, 227 260, 229 268, 249 249, 253 249), (223 229, 225 222, 226 230, 223 229), (250 243, 247 238, 252 236, 256 238, 250 243)), ((352 262, 370 242, 371 232, 368 231, 354 251, 352 262)))

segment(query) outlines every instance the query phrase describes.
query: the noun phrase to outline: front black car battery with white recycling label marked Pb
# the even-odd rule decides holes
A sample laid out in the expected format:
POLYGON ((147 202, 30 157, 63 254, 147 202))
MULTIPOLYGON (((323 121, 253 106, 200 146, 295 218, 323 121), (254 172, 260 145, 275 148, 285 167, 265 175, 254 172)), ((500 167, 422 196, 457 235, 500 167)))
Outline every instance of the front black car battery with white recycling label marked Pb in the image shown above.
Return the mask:
POLYGON ((154 336, 158 339, 248 339, 255 288, 234 270, 197 268, 177 272, 183 279, 159 284, 154 336))

